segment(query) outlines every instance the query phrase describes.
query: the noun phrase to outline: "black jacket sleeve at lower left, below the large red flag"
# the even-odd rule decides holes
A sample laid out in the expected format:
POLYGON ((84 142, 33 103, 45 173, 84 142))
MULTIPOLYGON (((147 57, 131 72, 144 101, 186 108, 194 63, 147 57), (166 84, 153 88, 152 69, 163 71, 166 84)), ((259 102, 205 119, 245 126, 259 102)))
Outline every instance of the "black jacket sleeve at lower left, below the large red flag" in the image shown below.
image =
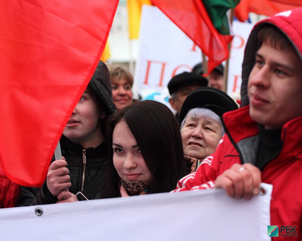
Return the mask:
POLYGON ((15 207, 56 203, 57 197, 48 190, 46 181, 42 188, 20 186, 15 207))

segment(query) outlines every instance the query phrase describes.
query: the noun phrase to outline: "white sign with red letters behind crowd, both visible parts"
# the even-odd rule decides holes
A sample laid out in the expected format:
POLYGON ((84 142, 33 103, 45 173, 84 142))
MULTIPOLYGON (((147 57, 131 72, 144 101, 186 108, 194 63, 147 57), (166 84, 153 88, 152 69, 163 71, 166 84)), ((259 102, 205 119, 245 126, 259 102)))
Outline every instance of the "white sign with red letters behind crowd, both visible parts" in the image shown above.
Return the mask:
MULTIPOLYGON (((227 93, 239 92, 241 64, 251 23, 233 21, 227 93)), ((171 78, 190 72, 202 61, 201 50, 157 7, 143 5, 140 22, 139 54, 135 69, 135 86, 143 99, 169 104, 167 85, 171 78)))

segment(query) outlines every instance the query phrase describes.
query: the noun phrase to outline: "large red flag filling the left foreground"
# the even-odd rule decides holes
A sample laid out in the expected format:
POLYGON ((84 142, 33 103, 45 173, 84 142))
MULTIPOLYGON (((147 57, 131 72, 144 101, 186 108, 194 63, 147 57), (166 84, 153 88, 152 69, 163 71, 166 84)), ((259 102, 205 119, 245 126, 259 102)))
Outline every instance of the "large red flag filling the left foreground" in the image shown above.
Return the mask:
POLYGON ((98 64, 118 0, 0 1, 0 159, 40 186, 98 64))

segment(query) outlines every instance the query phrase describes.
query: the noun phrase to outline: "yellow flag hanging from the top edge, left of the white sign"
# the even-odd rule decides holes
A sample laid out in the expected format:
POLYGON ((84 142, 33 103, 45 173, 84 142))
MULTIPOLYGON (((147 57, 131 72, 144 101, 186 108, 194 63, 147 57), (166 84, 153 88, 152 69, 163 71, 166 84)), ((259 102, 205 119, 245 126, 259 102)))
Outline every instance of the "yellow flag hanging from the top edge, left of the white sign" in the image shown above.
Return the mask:
POLYGON ((150 0, 127 0, 130 39, 138 38, 140 30, 140 14, 143 4, 152 5, 150 0))

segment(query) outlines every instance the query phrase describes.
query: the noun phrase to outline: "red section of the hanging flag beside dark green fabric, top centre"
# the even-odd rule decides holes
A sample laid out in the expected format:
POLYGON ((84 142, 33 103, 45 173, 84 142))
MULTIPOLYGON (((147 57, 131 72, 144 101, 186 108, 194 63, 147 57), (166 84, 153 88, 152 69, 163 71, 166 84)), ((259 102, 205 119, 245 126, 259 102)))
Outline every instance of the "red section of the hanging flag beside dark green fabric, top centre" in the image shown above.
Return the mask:
POLYGON ((208 73, 229 57, 233 36, 222 35, 213 26, 201 0, 152 0, 208 56, 208 73))

